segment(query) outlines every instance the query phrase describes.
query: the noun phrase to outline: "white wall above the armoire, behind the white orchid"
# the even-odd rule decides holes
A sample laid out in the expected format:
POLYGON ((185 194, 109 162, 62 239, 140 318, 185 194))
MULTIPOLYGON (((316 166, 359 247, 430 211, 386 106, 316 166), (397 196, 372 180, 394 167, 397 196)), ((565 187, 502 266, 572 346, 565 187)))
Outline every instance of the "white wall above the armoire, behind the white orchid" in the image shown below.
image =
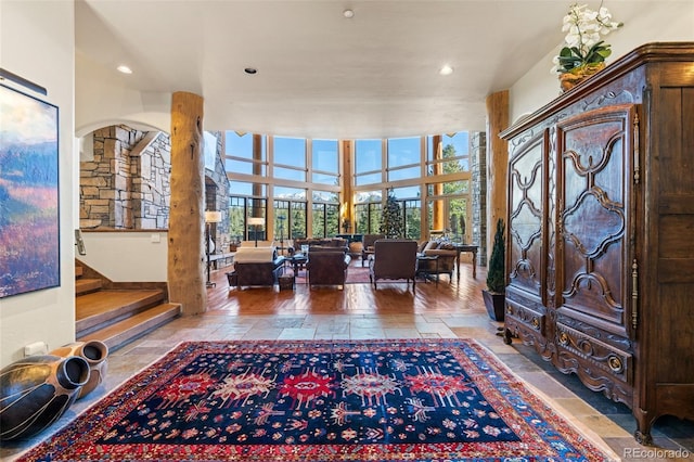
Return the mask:
MULTIPOLYGON (((694 41, 694 0, 659 0, 647 2, 647 5, 644 2, 641 10, 635 10, 640 8, 637 3, 609 2, 606 5, 615 21, 625 23, 620 29, 605 37, 613 51, 607 65, 644 43, 694 41)), ((561 27, 561 18, 557 18, 557 27, 561 27)), ((510 89, 509 119, 512 124, 558 97, 560 81, 550 69, 561 46, 557 43, 555 50, 551 50, 510 89)))

